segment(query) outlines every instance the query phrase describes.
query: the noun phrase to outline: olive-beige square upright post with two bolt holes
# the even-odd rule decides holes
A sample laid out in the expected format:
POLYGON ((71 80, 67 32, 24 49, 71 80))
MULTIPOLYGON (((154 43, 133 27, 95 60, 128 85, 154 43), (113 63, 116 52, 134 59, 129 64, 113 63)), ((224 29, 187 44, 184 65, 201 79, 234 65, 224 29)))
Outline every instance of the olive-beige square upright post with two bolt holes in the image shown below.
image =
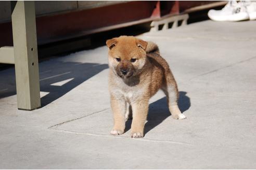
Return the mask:
POLYGON ((18 109, 41 106, 33 1, 11 1, 18 109))

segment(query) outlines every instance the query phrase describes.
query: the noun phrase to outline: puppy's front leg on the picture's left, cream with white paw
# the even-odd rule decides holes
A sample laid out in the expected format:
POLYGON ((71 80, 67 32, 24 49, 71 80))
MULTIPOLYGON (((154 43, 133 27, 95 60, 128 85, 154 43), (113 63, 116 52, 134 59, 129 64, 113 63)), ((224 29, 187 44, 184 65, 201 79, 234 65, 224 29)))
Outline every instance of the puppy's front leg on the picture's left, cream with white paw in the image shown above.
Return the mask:
POLYGON ((111 108, 113 111, 114 127, 111 135, 121 135, 125 128, 126 101, 124 98, 115 98, 111 96, 111 108))

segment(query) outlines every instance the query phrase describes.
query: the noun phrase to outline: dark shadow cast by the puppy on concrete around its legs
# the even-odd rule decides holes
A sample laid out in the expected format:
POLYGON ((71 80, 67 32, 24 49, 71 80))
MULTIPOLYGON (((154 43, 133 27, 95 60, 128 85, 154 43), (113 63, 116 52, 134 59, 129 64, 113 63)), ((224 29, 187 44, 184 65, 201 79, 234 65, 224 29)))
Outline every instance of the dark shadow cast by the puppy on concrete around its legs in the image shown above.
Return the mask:
MULTIPOLYGON (((180 92, 180 97, 178 100, 178 107, 181 112, 184 112, 190 107, 190 98, 186 95, 187 92, 180 92)), ((167 98, 160 98, 158 101, 153 102, 149 105, 147 123, 145 124, 144 135, 152 130, 154 127, 162 123, 166 118, 171 116, 167 105, 167 98)), ((127 132, 131 128, 132 120, 127 120, 125 122, 125 131, 127 132)))

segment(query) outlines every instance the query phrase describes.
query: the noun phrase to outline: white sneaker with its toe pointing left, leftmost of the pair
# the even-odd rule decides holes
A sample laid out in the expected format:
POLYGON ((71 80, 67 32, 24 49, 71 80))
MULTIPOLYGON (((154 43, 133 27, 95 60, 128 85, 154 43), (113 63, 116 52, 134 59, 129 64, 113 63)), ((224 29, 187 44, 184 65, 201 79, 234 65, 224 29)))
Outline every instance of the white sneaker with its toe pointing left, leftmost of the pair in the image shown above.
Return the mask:
POLYGON ((249 20, 249 15, 243 3, 229 1, 221 10, 211 9, 208 17, 213 21, 242 21, 249 20))

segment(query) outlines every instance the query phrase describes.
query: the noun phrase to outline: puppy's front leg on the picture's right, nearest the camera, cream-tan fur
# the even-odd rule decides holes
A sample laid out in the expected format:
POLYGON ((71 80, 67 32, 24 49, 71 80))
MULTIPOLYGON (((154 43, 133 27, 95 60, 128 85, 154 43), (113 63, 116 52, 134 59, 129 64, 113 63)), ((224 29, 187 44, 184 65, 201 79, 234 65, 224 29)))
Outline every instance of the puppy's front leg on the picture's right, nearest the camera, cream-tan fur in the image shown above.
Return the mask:
POLYGON ((131 137, 140 138, 144 136, 144 126, 148 114, 148 100, 133 103, 132 109, 133 121, 131 127, 131 137))

